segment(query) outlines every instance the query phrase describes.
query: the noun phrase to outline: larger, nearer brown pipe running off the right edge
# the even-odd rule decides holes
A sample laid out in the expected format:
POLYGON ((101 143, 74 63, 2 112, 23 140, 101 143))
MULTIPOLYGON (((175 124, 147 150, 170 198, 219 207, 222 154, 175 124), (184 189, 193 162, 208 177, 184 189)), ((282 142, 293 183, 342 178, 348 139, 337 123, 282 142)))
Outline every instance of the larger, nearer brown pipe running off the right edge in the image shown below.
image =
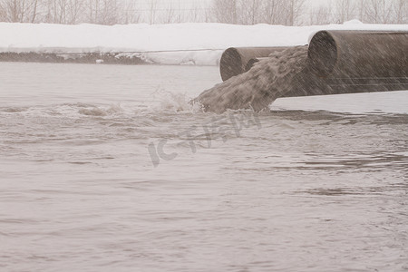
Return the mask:
POLYGON ((408 76, 408 32, 320 31, 309 44, 311 69, 325 78, 408 76))

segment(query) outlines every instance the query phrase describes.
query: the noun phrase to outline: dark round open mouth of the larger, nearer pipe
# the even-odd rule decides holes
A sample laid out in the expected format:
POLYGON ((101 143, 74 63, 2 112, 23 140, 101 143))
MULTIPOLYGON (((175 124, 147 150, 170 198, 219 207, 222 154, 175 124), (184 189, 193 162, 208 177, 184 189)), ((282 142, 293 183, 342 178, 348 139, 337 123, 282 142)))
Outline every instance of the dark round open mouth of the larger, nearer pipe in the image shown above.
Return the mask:
POLYGON ((308 58, 312 71, 325 77, 333 72, 337 62, 337 46, 331 34, 318 32, 309 44, 308 58))

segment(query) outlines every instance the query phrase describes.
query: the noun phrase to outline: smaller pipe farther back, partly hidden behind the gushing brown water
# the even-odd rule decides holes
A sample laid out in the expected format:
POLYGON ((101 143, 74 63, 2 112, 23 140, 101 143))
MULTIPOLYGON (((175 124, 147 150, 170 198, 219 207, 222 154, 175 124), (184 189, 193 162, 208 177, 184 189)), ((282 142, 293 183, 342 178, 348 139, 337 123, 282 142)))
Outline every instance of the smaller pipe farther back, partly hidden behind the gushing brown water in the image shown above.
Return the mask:
POLYGON ((251 59, 263 58, 269 54, 285 50, 287 47, 231 47, 222 53, 219 72, 225 82, 229 78, 245 73, 251 59))

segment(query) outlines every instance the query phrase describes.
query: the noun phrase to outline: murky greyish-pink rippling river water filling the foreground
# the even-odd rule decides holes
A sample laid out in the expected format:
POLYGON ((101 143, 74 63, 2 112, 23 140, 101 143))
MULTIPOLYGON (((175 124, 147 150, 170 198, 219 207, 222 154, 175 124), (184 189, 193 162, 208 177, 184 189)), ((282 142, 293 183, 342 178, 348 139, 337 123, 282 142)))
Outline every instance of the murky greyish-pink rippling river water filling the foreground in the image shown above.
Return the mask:
POLYGON ((406 271, 408 92, 203 113, 216 67, 0 63, 1 271, 406 271))

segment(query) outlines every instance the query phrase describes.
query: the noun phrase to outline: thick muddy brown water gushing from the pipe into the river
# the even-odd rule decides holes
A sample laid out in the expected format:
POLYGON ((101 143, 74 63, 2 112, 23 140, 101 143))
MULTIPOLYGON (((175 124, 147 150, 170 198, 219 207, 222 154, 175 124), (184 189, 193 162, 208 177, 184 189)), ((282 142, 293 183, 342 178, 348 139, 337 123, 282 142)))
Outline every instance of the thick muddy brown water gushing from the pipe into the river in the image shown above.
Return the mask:
POLYGON ((208 112, 238 109, 259 112, 296 87, 296 75, 306 68, 307 46, 272 53, 248 73, 242 73, 202 92, 193 102, 208 112))

